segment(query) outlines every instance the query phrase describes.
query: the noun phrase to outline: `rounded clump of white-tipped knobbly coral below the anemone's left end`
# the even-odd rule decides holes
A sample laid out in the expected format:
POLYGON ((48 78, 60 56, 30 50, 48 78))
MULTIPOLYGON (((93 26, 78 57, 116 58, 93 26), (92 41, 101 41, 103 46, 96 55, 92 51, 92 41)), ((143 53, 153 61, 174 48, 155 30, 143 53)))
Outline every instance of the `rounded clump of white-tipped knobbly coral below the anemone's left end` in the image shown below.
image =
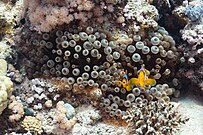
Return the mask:
POLYGON ((24 104, 27 107, 33 106, 33 109, 36 111, 50 106, 50 103, 47 103, 47 101, 56 101, 59 97, 56 94, 57 88, 46 79, 35 78, 31 81, 27 79, 21 85, 15 86, 14 89, 16 93, 21 91, 19 94, 20 99, 25 102, 24 104), (55 95, 51 96, 54 92, 55 95))

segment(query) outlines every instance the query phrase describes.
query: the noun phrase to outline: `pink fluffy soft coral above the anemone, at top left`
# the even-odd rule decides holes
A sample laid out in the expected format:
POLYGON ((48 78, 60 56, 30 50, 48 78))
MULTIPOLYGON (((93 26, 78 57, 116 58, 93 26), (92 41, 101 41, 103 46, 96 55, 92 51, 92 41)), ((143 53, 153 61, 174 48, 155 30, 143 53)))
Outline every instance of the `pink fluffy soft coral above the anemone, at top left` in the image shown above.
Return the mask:
POLYGON ((90 0, 25 0, 28 17, 35 30, 49 32, 73 20, 86 22, 94 3, 90 0))

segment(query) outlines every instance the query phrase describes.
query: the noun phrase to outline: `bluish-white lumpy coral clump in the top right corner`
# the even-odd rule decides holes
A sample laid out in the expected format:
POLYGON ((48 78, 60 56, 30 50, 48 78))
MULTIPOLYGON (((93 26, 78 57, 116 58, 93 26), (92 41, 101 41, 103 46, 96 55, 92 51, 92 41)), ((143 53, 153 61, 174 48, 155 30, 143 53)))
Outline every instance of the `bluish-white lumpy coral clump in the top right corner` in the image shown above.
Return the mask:
POLYGON ((173 14, 187 20, 187 25, 181 30, 183 40, 190 45, 199 45, 202 43, 202 6, 200 0, 184 1, 184 4, 177 7, 173 14))

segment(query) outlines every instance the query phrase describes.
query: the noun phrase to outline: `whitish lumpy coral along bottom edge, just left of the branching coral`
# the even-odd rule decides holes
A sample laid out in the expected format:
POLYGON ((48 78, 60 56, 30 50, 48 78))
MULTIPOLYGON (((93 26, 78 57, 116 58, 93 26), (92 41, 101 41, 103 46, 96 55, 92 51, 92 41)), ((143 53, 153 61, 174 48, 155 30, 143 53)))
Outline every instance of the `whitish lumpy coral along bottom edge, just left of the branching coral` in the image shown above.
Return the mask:
MULTIPOLYGON (((121 125, 110 125, 109 123, 98 123, 101 119, 99 110, 92 106, 81 106, 76 114, 78 123, 73 126, 72 134, 120 134, 127 135, 128 129, 121 125)), ((116 120, 117 121, 117 120, 116 120)), ((118 122, 118 121, 117 121, 118 122)))

